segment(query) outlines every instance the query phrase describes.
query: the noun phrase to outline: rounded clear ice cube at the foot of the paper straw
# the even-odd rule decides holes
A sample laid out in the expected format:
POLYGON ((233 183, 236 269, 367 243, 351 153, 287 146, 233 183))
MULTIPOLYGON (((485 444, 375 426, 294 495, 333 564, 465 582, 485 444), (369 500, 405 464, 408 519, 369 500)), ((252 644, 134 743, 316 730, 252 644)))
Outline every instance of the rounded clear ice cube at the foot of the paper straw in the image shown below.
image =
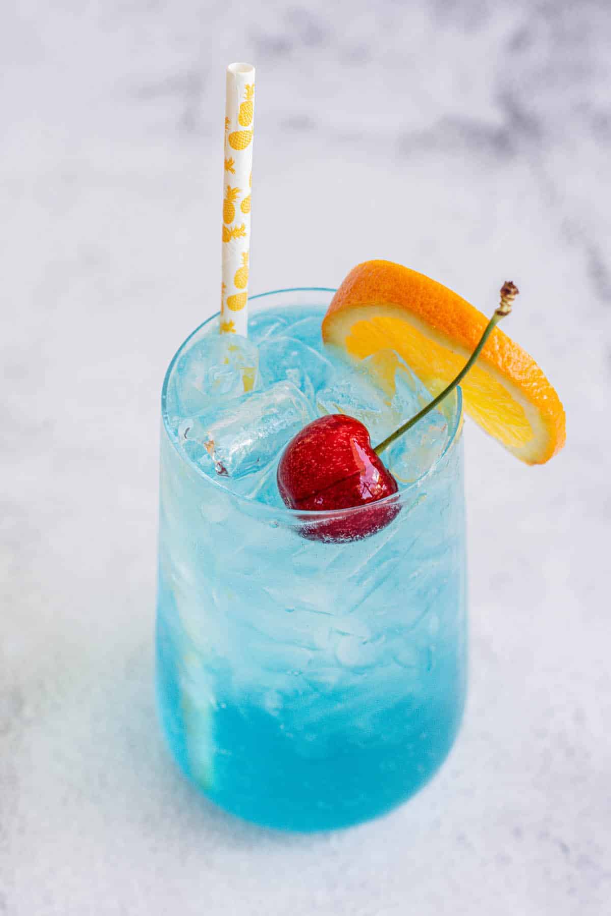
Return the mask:
POLYGON ((239 334, 211 333, 193 344, 174 369, 169 409, 182 418, 211 401, 239 398, 256 388, 258 349, 239 334))

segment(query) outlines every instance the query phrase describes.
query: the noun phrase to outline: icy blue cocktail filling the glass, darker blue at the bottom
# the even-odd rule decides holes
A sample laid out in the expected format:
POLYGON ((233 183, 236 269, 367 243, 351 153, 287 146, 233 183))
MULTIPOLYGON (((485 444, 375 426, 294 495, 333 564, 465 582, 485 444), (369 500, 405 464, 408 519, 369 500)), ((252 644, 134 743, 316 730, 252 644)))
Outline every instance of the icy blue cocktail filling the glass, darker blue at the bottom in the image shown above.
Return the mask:
POLYGON ((247 340, 206 322, 162 398, 169 745, 227 811, 301 831, 409 798, 452 747, 465 692, 460 391, 385 455, 400 510, 376 534, 312 538, 312 525, 373 509, 296 513, 278 494, 280 454, 310 420, 347 413, 379 442, 430 399, 396 354, 347 364, 323 348, 332 294, 256 297, 247 340))

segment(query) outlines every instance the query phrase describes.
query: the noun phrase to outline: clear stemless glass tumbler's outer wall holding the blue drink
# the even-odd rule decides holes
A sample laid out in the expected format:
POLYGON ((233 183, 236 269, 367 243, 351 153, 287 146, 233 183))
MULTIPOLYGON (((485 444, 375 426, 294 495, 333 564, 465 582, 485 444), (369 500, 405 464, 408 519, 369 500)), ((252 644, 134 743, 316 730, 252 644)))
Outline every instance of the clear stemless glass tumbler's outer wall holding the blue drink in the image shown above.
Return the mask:
MULTIPOLYGON (((250 308, 332 296, 278 290, 250 308)), ((166 393, 187 343, 162 395, 157 671, 169 747, 213 802, 247 820, 299 831, 366 821, 431 778, 463 714, 460 390, 444 405, 442 456, 384 501, 400 507, 392 523, 325 543, 312 525, 372 507, 266 506, 232 495, 180 450, 166 393)))

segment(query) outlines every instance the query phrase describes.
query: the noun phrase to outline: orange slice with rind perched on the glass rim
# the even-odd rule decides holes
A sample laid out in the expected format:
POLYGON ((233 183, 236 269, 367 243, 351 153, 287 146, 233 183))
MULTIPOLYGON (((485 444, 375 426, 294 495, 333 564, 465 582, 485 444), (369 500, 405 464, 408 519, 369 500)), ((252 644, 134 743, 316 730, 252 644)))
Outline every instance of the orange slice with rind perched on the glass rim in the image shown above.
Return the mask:
MULTIPOLYGON (((322 321, 322 339, 357 359, 395 350, 431 395, 475 350, 488 320, 452 289, 391 261, 366 261, 344 279, 322 321)), ((528 464, 565 440, 564 409, 539 365, 499 328, 465 376, 464 409, 528 464)))

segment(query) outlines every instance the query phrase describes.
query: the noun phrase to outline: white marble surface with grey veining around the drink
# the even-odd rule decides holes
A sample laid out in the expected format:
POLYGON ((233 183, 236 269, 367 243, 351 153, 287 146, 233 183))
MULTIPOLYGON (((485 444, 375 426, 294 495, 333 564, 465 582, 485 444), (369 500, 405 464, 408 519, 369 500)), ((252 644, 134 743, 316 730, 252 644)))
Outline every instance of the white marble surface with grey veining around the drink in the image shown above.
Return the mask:
POLYGON ((3 916, 609 912, 610 40, 605 0, 2 5, 3 916), (464 728, 338 834, 225 817, 155 723, 158 391, 218 300, 235 59, 252 290, 383 256, 487 311, 513 278, 568 414, 539 469, 465 431, 464 728))

